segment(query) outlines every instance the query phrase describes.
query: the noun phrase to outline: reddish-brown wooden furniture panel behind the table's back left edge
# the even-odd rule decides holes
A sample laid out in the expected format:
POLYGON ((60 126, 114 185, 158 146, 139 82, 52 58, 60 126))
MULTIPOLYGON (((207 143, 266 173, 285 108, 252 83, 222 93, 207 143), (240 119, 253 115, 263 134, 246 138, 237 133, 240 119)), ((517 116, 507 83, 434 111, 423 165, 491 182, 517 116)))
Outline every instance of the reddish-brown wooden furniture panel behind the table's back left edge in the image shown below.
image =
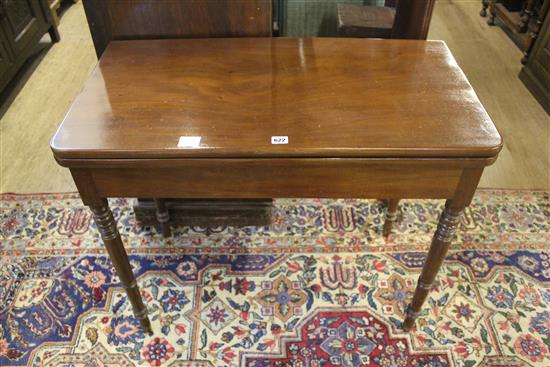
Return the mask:
POLYGON ((100 57, 111 40, 271 36, 271 0, 83 0, 100 57))

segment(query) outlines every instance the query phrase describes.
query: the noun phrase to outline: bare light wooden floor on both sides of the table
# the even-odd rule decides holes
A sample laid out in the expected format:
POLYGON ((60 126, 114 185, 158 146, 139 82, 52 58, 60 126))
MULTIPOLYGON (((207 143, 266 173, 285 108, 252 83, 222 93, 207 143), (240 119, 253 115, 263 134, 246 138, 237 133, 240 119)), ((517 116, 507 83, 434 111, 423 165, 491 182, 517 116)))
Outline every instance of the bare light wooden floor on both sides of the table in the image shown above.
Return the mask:
MULTIPOLYGON (((549 189, 550 117, 517 77, 521 52, 479 9, 478 0, 438 1, 429 38, 447 42, 504 137, 481 186, 549 189)), ((49 140, 96 63, 81 3, 63 15, 60 32, 0 121, 0 192, 75 190, 49 140)))

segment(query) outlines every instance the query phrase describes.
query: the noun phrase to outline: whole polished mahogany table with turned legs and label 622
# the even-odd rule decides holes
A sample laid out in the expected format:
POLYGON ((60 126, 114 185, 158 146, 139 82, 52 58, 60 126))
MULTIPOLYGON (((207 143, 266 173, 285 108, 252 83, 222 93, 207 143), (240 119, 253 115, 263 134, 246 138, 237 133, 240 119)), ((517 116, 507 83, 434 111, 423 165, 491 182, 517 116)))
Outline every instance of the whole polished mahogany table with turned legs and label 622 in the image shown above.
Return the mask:
POLYGON ((108 197, 447 199, 409 330, 501 145, 445 43, 350 38, 112 42, 51 141, 148 332, 108 197))

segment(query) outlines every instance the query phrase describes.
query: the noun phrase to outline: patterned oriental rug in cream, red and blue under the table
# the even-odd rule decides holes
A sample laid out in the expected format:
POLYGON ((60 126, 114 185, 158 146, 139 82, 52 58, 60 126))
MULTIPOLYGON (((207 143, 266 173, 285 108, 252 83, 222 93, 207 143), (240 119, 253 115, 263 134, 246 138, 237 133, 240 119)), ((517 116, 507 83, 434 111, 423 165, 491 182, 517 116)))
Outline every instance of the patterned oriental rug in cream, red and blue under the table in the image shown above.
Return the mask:
POLYGON ((76 194, 0 196, 0 365, 550 365, 548 192, 478 191, 416 328, 400 329, 442 208, 276 200, 268 227, 141 228, 111 201, 144 335, 76 194))

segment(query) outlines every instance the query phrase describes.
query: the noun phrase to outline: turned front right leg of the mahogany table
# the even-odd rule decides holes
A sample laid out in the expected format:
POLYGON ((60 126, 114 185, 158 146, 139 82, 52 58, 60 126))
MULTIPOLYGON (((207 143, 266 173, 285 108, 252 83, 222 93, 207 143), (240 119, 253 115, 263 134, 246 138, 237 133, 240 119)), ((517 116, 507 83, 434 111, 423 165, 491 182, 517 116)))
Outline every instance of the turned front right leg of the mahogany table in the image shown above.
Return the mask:
POLYGON ((453 200, 447 200, 445 203, 445 210, 439 219, 439 224, 437 225, 437 230, 428 252, 428 258, 422 268, 413 300, 409 305, 405 321, 403 322, 403 330, 405 331, 411 329, 414 321, 420 314, 420 309, 428 296, 435 276, 445 259, 447 249, 455 236, 458 220, 463 209, 463 206, 455 205, 453 200))

